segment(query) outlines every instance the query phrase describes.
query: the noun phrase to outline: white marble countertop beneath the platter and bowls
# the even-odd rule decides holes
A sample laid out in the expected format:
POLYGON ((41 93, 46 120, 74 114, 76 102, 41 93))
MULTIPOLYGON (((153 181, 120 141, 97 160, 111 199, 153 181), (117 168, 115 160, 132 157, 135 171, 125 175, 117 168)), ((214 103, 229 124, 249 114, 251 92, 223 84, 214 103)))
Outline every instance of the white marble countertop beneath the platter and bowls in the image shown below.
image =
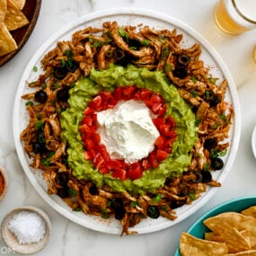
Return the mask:
MULTIPOLYGON (((42 1, 37 25, 23 49, 0 67, 0 165, 8 171, 10 186, 0 204, 0 221, 13 207, 36 206, 51 219, 52 232, 47 247, 36 255, 139 255, 172 256, 182 231, 210 207, 227 199, 256 194, 256 160, 252 155, 252 129, 256 124, 256 64, 252 51, 256 30, 239 36, 226 35, 216 27, 213 9, 216 1, 199 0, 46 0, 42 1), (241 142, 234 166, 214 197, 193 216, 180 224, 153 234, 119 237, 102 234, 77 225, 50 207, 31 186, 19 163, 13 142, 13 100, 22 72, 42 42, 67 22, 109 7, 140 7, 169 14, 186 22, 202 34, 223 57, 238 88, 242 112, 241 142)), ((0 255, 18 255, 6 249, 0 240, 0 255)))

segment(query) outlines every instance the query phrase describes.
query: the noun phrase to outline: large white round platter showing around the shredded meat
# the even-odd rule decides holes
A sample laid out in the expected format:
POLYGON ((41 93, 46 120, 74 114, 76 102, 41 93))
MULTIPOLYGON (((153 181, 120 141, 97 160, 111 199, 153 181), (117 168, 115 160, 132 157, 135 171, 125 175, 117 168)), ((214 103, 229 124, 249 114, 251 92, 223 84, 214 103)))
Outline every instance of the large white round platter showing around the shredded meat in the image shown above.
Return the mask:
MULTIPOLYGON (((201 59, 204 60, 205 65, 210 67, 210 73, 213 76, 227 79, 229 87, 226 92, 226 102, 232 102, 234 105, 234 125, 230 130, 230 147, 225 155, 225 167, 220 172, 214 173, 214 179, 223 182, 230 172, 234 163, 235 154, 240 140, 241 130, 241 115, 238 96, 232 76, 230 75, 224 61, 218 55, 215 49, 202 38, 197 31, 194 31, 190 26, 183 22, 173 19, 172 17, 163 14, 155 13, 154 11, 146 9, 122 8, 122 9, 109 9, 97 13, 90 13, 80 17, 75 22, 69 23, 64 29, 58 31, 49 40, 47 40, 26 66, 22 75, 20 84, 17 88, 17 93, 13 106, 13 134, 14 142, 19 156, 22 168, 31 181, 31 184, 37 190, 42 199, 45 199, 51 207, 57 210, 63 216, 74 221, 79 225, 87 228, 100 231, 108 234, 120 234, 121 226, 119 221, 115 219, 102 219, 102 217, 86 216, 82 212, 74 212, 70 207, 67 207, 62 199, 55 195, 49 196, 46 182, 43 180, 40 171, 32 170, 30 167, 30 159, 24 153, 20 135, 23 128, 26 127, 28 122, 28 114, 25 110, 25 102, 21 96, 24 93, 29 93, 30 89, 26 84, 37 79, 40 74, 40 59, 50 50, 55 48, 58 40, 71 40, 71 36, 75 31, 84 29, 86 26, 102 27, 102 22, 117 21, 120 25, 138 25, 143 23, 155 29, 177 29, 178 33, 183 34, 181 46, 190 47, 193 43, 199 42, 202 47, 201 59), (39 68, 38 72, 33 71, 33 66, 39 68)), ((203 193, 199 199, 194 201, 190 206, 183 206, 177 209, 178 218, 174 221, 168 220, 163 217, 157 219, 147 218, 139 223, 131 230, 136 230, 138 234, 152 233, 172 225, 176 225, 188 216, 192 215, 199 207, 202 207, 214 195, 217 188, 209 188, 206 193, 203 193)))

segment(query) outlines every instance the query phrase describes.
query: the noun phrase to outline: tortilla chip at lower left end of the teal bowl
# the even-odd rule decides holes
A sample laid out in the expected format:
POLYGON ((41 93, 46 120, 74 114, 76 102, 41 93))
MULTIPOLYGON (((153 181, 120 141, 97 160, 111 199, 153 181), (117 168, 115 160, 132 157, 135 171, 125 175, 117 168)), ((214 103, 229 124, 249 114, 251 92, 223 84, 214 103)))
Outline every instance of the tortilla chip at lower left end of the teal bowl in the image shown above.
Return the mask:
POLYGON ((183 232, 180 240, 180 252, 181 256, 223 256, 227 254, 228 250, 225 243, 199 239, 183 232))

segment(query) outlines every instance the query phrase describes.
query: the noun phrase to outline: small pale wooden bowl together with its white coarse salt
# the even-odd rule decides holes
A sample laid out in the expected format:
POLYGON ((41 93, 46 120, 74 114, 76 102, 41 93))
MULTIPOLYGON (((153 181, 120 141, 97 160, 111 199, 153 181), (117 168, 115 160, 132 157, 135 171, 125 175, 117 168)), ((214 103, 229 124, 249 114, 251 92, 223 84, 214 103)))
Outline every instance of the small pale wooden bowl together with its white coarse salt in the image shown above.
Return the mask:
POLYGON ((50 229, 49 216, 38 207, 15 208, 1 225, 4 243, 21 254, 40 252, 49 242, 50 229))

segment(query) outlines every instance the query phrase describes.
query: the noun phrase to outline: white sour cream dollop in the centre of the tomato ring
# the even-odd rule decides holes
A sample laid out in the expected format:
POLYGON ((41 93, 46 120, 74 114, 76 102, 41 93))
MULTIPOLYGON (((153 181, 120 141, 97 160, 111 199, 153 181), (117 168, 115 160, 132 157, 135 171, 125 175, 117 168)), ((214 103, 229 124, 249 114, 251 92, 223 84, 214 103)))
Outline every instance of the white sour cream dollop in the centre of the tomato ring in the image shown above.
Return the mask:
POLYGON ((97 112, 101 143, 112 159, 135 163, 154 150, 160 136, 153 114, 142 101, 119 101, 115 108, 97 112))

